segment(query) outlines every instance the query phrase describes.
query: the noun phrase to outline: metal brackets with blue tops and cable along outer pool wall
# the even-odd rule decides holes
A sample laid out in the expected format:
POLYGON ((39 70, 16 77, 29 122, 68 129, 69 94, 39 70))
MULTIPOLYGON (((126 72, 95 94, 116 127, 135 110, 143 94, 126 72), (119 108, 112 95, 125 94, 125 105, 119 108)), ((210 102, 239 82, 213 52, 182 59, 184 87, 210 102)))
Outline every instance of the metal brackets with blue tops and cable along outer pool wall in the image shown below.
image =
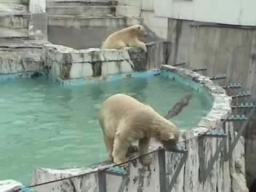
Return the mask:
MULTIPOLYGON (((206 68, 200 68, 200 69, 191 69, 193 71, 203 71, 206 70, 206 68), (201 70, 202 69, 202 70, 201 70)), ((220 75, 218 76, 220 77, 220 75)), ((217 79, 215 77, 213 77, 212 79, 217 79)), ((227 89, 227 90, 232 90, 232 89, 237 89, 242 87, 242 85, 240 83, 231 83, 230 85, 227 86, 222 86, 223 89, 227 89)), ((230 91, 232 92, 232 91, 230 91)), ((233 93, 233 99, 236 100, 236 103, 232 106, 233 109, 245 109, 247 116, 245 116, 245 114, 239 115, 239 114, 231 114, 227 119, 222 119, 222 130, 221 131, 217 131, 217 130, 209 130, 206 131, 205 133, 201 133, 199 134, 197 137, 198 140, 198 144, 201 146, 204 146, 204 142, 203 142, 203 138, 218 138, 218 139, 222 139, 221 142, 219 143, 217 150, 215 151, 215 153, 213 154, 213 156, 209 159, 208 162, 205 162, 205 158, 203 158, 203 151, 198 151, 199 152, 199 179, 204 180, 206 179, 206 175, 209 174, 210 170, 212 170, 213 165, 215 163, 215 161, 218 159, 219 154, 221 152, 223 152, 223 161, 228 161, 230 159, 230 156, 239 140, 239 137, 242 135, 243 130, 245 129, 246 125, 249 122, 250 117, 253 115, 253 112, 255 110, 255 104, 252 102, 240 102, 239 103, 239 98, 247 98, 248 96, 250 96, 250 92, 241 92, 241 94, 234 94, 233 93), (227 147, 227 133, 226 133, 226 122, 242 122, 242 125, 239 127, 239 129, 237 130, 237 135, 234 139, 233 142, 229 143, 230 147, 227 147), (206 166, 207 165, 207 166, 206 166)), ((191 138, 191 139, 195 139, 195 138, 191 138)), ((111 166, 102 166, 99 167, 98 170, 94 170, 91 172, 87 172, 87 173, 83 173, 83 174, 77 174, 77 175, 73 175, 70 177, 65 177, 65 178, 61 178, 61 179, 56 179, 56 180, 51 180, 51 181, 47 181, 47 182, 42 182, 42 183, 38 183, 36 185, 30 185, 27 187, 24 187, 22 189, 16 190, 16 191, 33 191, 33 188, 38 187, 38 186, 42 186, 42 185, 48 185, 50 183, 53 182, 58 182, 58 181, 62 181, 62 180, 68 180, 68 179, 73 179, 73 178, 78 178, 87 174, 92 174, 92 173, 97 173, 98 175, 98 188, 100 192, 105 192, 107 191, 106 189, 106 185, 107 185, 107 181, 106 181, 106 174, 114 174, 114 175, 118 175, 119 177, 122 178, 122 182, 121 185, 119 186, 118 192, 119 191, 123 191, 126 183, 128 182, 128 175, 129 172, 127 172, 126 170, 123 169, 122 165, 129 163, 129 162, 133 162, 139 158, 141 158, 142 156, 146 156, 149 154, 158 154, 158 164, 159 164, 159 188, 160 191, 165 192, 167 191, 171 191, 173 185, 176 182, 177 176, 180 173, 182 166, 185 164, 187 156, 188 156, 188 149, 187 149, 187 142, 191 139, 179 142, 179 145, 177 145, 177 147, 172 148, 172 149, 164 149, 164 148, 158 148, 156 150, 150 151, 147 154, 138 156, 138 157, 134 157, 129 159, 129 161, 127 162, 123 162, 121 164, 116 164, 116 165, 111 165, 111 166), (169 171, 166 171, 167 167, 165 164, 166 161, 166 152, 172 152, 172 153, 179 153, 182 154, 182 157, 180 159, 180 163, 178 164, 177 167, 175 167, 175 171, 174 174, 172 175, 173 177, 171 178, 171 181, 169 183, 166 182, 166 177, 168 175, 170 175, 171 173, 169 171)))

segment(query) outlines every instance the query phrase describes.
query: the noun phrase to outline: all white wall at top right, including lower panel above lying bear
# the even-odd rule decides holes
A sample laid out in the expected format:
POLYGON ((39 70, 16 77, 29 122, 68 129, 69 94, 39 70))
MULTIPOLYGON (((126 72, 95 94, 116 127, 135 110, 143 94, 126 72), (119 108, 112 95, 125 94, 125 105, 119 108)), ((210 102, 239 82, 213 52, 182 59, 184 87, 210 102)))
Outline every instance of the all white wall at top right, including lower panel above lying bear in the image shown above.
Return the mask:
MULTIPOLYGON (((167 38, 168 18, 256 25, 256 0, 117 0, 132 9, 140 7, 143 24, 161 38, 167 38)), ((130 15, 130 14, 129 14, 130 15)), ((133 14, 132 14, 133 15, 133 14)), ((138 16, 138 14, 137 14, 138 16)))

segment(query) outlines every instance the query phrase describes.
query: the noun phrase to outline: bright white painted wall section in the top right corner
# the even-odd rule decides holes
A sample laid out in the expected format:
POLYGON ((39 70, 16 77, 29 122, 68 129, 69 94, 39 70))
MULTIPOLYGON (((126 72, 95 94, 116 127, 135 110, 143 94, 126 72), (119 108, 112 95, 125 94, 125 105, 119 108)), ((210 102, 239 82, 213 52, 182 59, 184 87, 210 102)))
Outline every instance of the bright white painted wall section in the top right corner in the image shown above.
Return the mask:
POLYGON ((256 25, 254 0, 154 0, 156 17, 256 25))

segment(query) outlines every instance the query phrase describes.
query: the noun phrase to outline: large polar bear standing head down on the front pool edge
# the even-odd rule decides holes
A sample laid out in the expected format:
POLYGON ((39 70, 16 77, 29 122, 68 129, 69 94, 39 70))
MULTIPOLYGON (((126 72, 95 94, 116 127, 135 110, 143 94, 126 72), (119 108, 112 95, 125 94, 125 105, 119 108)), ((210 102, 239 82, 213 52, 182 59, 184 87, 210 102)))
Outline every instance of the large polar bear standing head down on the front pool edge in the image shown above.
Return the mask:
MULTIPOLYGON (((179 130, 170 121, 159 115, 153 108, 136 99, 115 94, 102 103, 99 123, 106 143, 108 160, 116 164, 127 161, 126 153, 131 144, 139 140, 139 154, 146 154, 150 138, 158 141, 179 140, 179 130)), ((144 165, 150 158, 142 157, 144 165)))

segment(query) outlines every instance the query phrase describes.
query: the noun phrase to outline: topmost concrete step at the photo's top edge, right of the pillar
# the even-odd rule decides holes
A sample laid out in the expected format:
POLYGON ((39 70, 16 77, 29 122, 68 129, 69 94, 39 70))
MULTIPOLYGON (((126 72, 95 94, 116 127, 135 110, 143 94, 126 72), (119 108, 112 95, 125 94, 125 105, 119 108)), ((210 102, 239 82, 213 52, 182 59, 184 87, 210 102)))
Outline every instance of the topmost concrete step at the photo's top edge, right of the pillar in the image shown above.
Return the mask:
POLYGON ((117 1, 110 0, 47 0, 46 7, 48 6, 83 6, 83 5, 116 5, 117 1))

